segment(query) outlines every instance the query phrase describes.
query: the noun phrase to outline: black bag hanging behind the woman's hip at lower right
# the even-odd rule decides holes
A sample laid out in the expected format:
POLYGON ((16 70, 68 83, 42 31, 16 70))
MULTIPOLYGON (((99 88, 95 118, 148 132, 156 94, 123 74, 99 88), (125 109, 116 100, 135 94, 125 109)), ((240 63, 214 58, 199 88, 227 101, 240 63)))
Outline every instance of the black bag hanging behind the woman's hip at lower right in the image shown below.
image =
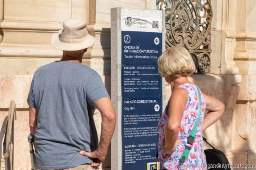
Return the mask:
POLYGON ((208 145, 210 145, 210 147, 212 147, 212 149, 204 150, 207 166, 209 167, 209 169, 210 170, 231 170, 226 155, 222 151, 214 148, 210 143, 206 141, 204 137, 203 137, 203 140, 208 145))

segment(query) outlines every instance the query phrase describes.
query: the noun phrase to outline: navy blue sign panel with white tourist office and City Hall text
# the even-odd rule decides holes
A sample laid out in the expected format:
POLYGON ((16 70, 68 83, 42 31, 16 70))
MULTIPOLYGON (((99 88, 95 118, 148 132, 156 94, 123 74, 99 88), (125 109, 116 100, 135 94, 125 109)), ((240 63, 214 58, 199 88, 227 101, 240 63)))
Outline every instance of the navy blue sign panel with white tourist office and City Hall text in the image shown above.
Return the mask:
POLYGON ((162 115, 162 33, 122 31, 122 170, 155 162, 162 115))

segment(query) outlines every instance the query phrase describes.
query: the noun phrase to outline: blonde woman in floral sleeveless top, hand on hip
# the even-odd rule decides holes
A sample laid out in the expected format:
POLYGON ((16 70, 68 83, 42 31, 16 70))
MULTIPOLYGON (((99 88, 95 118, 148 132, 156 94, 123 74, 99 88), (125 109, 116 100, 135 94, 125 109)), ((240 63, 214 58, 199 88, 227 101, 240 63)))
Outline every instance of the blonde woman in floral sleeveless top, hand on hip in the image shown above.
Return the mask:
POLYGON ((207 169, 202 131, 216 122, 224 111, 224 104, 197 90, 197 86, 188 81, 195 71, 194 62, 188 51, 182 47, 171 47, 158 59, 158 70, 170 84, 172 95, 158 123, 159 160, 162 168, 168 170, 203 170, 207 169), (199 106, 198 92, 201 96, 199 106), (201 114, 199 109, 201 108, 201 114), (208 114, 204 117, 204 112, 208 114), (188 157, 182 166, 180 157, 187 145, 196 119, 200 114, 196 137, 188 157))

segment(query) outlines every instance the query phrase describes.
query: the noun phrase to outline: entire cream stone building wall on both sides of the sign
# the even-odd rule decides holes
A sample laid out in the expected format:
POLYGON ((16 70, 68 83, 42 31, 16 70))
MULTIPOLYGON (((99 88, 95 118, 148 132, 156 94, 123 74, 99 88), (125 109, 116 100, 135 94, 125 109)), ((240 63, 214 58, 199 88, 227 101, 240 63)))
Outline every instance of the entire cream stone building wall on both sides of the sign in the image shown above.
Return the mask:
MULTIPOLYGON (((35 70, 62 56, 50 40, 64 20, 88 22, 97 41, 85 53, 83 64, 101 75, 110 94, 110 8, 114 7, 155 9, 156 0, 0 0, 0 141, 9 103, 15 100, 15 170, 30 169, 26 98, 35 70)), ((227 154, 230 163, 256 164, 256 2, 212 0, 212 10, 210 74, 193 75, 190 80, 226 109, 204 135, 227 154)), ((166 84, 166 100, 170 94, 166 84)), ((100 133, 98 111, 94 118, 100 133)), ((2 152, 1 147, 1 156, 2 152)), ((110 154, 107 157, 101 168, 110 170, 110 154)))

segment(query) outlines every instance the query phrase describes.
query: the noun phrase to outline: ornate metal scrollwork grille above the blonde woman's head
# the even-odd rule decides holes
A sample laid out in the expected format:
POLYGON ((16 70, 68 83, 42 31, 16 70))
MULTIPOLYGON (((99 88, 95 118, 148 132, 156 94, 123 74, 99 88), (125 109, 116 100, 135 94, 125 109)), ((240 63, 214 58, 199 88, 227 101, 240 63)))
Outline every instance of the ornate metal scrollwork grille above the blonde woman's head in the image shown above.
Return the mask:
POLYGON ((166 48, 185 47, 202 74, 210 71, 212 6, 210 0, 158 0, 166 11, 166 48))

